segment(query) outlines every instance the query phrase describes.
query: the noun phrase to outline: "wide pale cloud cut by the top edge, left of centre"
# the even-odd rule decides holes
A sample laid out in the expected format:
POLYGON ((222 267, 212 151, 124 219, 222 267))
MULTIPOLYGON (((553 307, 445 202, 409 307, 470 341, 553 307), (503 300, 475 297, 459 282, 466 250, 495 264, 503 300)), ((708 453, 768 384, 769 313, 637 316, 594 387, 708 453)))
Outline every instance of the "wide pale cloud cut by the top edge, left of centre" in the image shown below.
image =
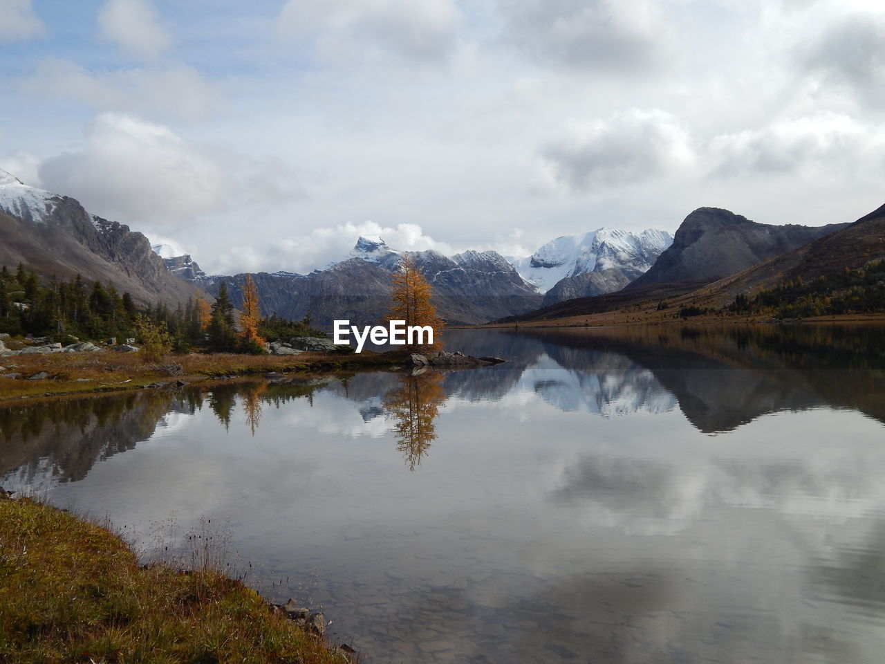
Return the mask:
POLYGON ((283 37, 312 40, 321 58, 428 62, 450 56, 460 17, 453 0, 289 0, 277 27, 283 37))

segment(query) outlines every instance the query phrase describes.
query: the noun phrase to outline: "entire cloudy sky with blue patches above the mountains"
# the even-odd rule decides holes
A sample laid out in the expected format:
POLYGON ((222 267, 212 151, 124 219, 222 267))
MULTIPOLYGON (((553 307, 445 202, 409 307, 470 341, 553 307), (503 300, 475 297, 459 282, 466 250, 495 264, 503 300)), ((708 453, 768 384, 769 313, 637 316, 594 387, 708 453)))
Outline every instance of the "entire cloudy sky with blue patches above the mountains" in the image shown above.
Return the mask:
POLYGON ((885 203, 878 0, 0 0, 0 52, 0 167, 212 273, 885 203))

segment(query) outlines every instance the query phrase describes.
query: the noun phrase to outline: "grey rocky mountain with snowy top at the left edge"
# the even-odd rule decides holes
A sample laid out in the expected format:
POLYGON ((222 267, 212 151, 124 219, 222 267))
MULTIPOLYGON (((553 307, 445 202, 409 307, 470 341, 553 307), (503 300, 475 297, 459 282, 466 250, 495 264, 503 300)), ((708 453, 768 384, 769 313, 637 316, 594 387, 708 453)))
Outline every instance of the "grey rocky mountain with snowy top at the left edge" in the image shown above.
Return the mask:
POLYGON ((71 197, 30 187, 0 170, 0 265, 23 263, 43 277, 112 282, 142 305, 187 302, 200 293, 176 279, 141 233, 89 214, 71 197))

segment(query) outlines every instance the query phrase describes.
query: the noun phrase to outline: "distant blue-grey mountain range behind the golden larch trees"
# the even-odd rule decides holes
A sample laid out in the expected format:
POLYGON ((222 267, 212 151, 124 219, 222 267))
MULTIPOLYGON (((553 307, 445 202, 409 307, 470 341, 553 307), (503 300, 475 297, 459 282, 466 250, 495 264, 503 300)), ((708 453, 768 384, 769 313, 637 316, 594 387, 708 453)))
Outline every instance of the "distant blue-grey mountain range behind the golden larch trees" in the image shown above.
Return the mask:
MULTIPOLYGON (((377 323, 389 306, 390 275, 404 251, 380 238, 360 237, 347 259, 311 274, 252 274, 262 309, 290 319, 308 313, 319 327, 347 319, 351 324, 377 323)), ((437 312, 450 324, 473 324, 523 313, 541 304, 541 296, 496 251, 465 251, 451 257, 438 251, 411 251, 421 274, 435 292, 437 312)), ((235 306, 246 274, 188 275, 189 257, 165 259, 176 274, 215 294, 227 282, 235 306)), ((190 261, 190 265, 196 265, 190 261)), ((202 272, 202 271, 201 271, 202 272)))

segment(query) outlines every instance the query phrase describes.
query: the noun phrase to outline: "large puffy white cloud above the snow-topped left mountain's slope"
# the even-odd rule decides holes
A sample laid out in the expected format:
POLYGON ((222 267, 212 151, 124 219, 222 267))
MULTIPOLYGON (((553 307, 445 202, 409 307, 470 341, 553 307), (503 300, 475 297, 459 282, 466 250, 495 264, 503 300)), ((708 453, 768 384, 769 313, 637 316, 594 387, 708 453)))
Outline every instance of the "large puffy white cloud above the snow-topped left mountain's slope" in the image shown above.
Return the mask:
POLYGON ((278 160, 192 143, 169 127, 103 113, 80 151, 45 159, 48 189, 112 220, 175 226, 195 215, 269 205, 302 195, 278 160))

